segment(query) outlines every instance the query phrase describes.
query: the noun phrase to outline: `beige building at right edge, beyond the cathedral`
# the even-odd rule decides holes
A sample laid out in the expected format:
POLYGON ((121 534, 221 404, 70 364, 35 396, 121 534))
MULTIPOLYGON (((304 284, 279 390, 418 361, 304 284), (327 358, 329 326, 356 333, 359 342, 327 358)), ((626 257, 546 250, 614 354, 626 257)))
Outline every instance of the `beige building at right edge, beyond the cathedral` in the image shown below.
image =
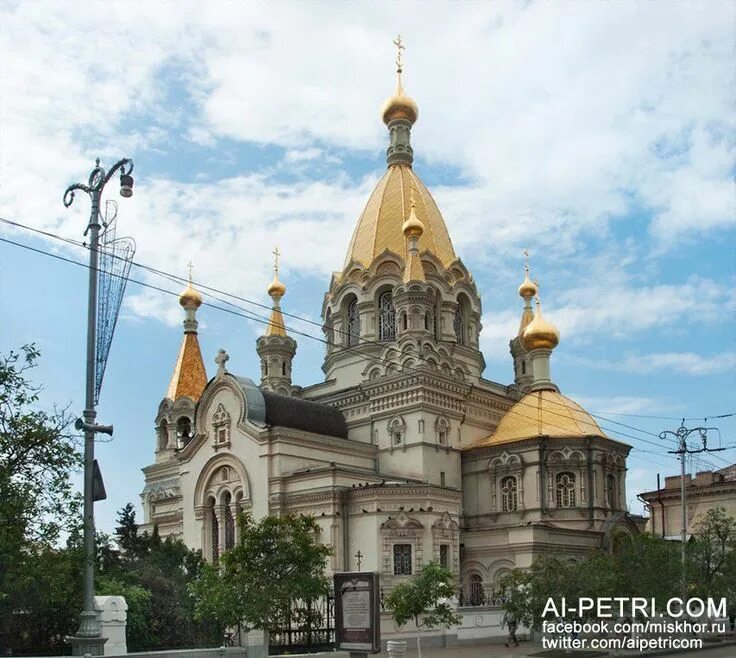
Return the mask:
MULTIPOLYGON (((682 536, 681 480, 679 475, 664 479, 664 487, 639 494, 647 506, 647 531, 658 537, 680 539, 682 536)), ((708 513, 723 507, 736 517, 736 465, 718 471, 701 471, 685 476, 688 536, 708 513)))

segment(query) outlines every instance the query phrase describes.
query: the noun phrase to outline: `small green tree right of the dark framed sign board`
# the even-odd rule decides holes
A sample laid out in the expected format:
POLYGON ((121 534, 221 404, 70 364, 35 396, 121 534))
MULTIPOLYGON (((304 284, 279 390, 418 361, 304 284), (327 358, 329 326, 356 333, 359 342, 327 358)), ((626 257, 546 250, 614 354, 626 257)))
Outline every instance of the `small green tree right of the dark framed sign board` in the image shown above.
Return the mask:
POLYGON ((461 617, 451 602, 455 596, 452 573, 438 562, 426 564, 422 570, 391 590, 386 606, 399 626, 414 622, 417 631, 417 655, 422 658, 422 629, 460 623, 461 617))

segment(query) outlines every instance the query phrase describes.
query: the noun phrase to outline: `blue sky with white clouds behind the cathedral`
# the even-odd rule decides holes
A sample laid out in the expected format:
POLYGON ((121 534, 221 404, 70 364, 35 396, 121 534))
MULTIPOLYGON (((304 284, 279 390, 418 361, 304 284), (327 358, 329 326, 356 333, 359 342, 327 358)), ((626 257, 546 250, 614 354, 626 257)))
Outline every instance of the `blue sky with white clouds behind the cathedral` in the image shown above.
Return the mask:
MULTIPOLYGON (((97 156, 132 157, 135 196, 119 199, 118 234, 135 238, 140 262, 183 276, 191 259, 195 280, 265 303, 279 244, 284 307, 316 321, 385 166, 379 108, 401 32, 419 105, 415 169, 478 282, 485 376, 512 378, 528 248, 562 334, 553 377, 635 447, 638 511, 636 492, 677 469, 653 436, 678 425, 668 418, 736 411, 735 11, 433 2, 419 25, 410 2, 2 3, 0 216, 81 239, 89 205, 79 197, 66 210, 64 188, 97 156)), ((86 257, 2 225, 0 236, 86 257)), ((35 341, 45 403, 80 411, 86 283, 82 268, 0 243, 0 348, 35 341)), ((223 347, 231 370, 256 378, 262 325, 199 316, 208 372, 223 347)), ((116 428, 98 446, 102 529, 138 503, 181 319, 175 295, 129 285, 99 406, 116 428)), ((298 343, 295 382, 320 381, 321 344, 298 343)), ((712 424, 736 445, 733 417, 712 424)))

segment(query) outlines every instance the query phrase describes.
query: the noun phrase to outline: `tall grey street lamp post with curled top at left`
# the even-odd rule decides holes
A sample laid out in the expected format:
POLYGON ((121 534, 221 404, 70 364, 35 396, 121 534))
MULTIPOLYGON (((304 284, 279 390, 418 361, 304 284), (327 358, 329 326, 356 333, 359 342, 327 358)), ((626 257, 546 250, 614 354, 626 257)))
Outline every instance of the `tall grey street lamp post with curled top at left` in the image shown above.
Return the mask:
POLYGON ((99 269, 99 236, 100 236, 100 201, 102 190, 116 171, 120 171, 120 195, 133 195, 133 161, 128 158, 119 160, 109 172, 100 166, 97 158, 95 168, 89 175, 88 185, 74 183, 64 192, 64 206, 67 208, 74 201, 75 190, 89 194, 92 210, 89 216, 87 232, 89 243, 89 292, 87 299, 87 370, 85 383, 84 420, 77 420, 75 427, 84 430, 84 609, 77 634, 69 640, 75 656, 101 656, 106 638, 100 637, 100 623, 95 613, 95 512, 94 512, 94 461, 95 434, 103 432, 112 434, 112 426, 97 425, 97 397, 99 394, 97 378, 97 282, 99 269))

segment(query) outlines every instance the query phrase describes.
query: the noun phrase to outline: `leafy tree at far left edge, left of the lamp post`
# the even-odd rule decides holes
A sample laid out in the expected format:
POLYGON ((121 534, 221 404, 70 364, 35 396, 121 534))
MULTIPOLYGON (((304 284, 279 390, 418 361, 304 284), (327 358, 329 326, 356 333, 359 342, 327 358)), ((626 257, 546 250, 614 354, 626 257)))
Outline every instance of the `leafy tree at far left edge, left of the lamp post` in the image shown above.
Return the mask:
MULTIPOLYGON (((81 464, 72 417, 40 408, 41 389, 29 379, 38 358, 33 345, 0 355, 0 644, 14 650, 23 641, 21 620, 43 606, 44 614, 56 615, 43 622, 35 615, 54 627, 49 633, 58 635, 67 623, 51 600, 63 589, 49 564, 60 559, 53 548, 60 533, 79 520, 70 480, 81 464)), ((64 568, 59 574, 65 577, 64 568)), ((72 589, 65 605, 73 600, 72 589)))

